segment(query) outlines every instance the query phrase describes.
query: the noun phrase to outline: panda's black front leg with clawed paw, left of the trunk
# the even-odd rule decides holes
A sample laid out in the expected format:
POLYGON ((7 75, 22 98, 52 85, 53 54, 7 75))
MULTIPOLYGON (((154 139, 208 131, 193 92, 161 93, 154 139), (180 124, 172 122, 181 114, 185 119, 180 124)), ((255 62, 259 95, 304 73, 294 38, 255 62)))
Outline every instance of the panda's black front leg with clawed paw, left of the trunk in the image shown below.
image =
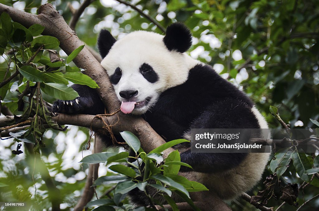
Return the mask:
POLYGON ((96 91, 88 86, 74 84, 72 88, 78 92, 79 97, 74 100, 56 100, 52 111, 70 114, 103 114, 104 105, 96 91))

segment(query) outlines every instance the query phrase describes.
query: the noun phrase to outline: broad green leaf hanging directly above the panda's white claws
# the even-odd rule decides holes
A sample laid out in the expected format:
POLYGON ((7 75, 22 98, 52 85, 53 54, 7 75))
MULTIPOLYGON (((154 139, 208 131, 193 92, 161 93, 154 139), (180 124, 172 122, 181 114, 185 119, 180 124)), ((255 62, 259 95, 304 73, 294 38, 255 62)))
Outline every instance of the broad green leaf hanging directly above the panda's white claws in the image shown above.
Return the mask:
POLYGON ((78 92, 65 84, 44 83, 41 84, 41 90, 60 100, 73 100, 79 97, 78 92))

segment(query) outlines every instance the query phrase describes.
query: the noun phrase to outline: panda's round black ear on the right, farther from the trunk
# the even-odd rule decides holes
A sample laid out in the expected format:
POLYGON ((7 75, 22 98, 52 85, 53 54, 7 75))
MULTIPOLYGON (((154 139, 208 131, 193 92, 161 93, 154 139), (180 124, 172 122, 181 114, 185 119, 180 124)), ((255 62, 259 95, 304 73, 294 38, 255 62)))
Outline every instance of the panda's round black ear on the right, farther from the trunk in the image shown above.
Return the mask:
POLYGON ((192 34, 183 23, 176 22, 167 27, 163 41, 168 50, 184 53, 192 45, 192 34))

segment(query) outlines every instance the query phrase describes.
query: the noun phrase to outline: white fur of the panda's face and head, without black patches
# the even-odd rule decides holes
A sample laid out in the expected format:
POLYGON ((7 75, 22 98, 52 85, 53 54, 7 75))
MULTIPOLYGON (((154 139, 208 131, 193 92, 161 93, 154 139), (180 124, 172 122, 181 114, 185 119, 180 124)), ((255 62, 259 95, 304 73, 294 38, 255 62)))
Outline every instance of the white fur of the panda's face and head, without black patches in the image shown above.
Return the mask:
POLYGON ((135 108, 133 114, 145 113, 154 105, 159 95, 168 88, 177 86, 187 80, 189 69, 199 61, 192 59, 186 53, 169 51, 163 35, 136 31, 115 42, 101 65, 111 76, 117 67, 122 70, 122 77, 114 86, 117 98, 127 101, 119 95, 120 91, 134 90, 138 95, 130 101, 140 102, 152 97, 147 106, 135 108), (152 84, 139 72, 143 63, 149 64, 159 76, 159 80, 152 84))

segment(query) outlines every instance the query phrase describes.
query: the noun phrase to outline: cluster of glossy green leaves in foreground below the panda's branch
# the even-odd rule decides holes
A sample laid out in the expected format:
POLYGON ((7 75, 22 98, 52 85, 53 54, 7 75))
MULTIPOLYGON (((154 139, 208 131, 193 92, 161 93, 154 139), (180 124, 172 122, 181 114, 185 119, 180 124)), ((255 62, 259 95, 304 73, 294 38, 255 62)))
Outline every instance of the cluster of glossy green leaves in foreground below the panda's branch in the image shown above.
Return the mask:
MULTIPOLYGON (((124 205, 122 200, 125 199, 127 193, 135 189, 135 194, 138 193, 137 188, 144 192, 147 196, 151 207, 155 208, 154 205, 162 206, 163 200, 172 207, 176 204, 171 198, 175 194, 180 195, 182 198, 189 198, 189 192, 194 191, 206 191, 208 190, 204 185, 189 181, 186 178, 178 176, 177 173, 181 167, 189 166, 188 164, 182 163, 178 151, 171 152, 163 162, 161 152, 170 146, 174 146, 178 143, 188 142, 187 140, 174 140, 167 142, 156 149, 153 152, 146 154, 142 148, 140 148, 140 142, 135 135, 128 131, 121 133, 125 142, 133 150, 135 156, 130 156, 128 152, 115 153, 97 153, 88 155, 82 159, 82 163, 95 164, 104 163, 110 165, 108 169, 121 174, 116 176, 102 176, 94 181, 94 185, 100 186, 103 184, 116 184, 111 191, 108 192, 107 199, 98 199, 91 201, 86 207, 101 206, 104 209, 123 209, 128 210, 131 208, 128 205, 124 205), (114 163, 125 163, 114 164, 114 163), (162 174, 164 173, 164 174, 162 174), (155 191, 155 192, 154 192, 155 191), (109 195, 112 194, 112 197, 109 195), (160 200, 161 196, 162 200, 160 200)), ((189 201, 190 205, 197 209, 194 204, 189 201)), ((139 210, 142 207, 136 207, 139 210)))

